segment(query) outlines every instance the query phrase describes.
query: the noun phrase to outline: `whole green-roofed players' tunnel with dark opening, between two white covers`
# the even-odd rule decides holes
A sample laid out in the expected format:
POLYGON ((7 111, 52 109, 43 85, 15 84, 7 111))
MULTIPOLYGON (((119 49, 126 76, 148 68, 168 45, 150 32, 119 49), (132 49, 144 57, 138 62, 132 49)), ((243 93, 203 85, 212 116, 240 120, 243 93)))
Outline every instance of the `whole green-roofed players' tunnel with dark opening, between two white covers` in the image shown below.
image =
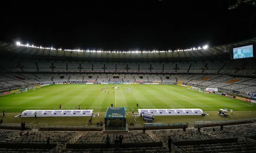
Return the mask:
POLYGON ((108 107, 105 114, 105 129, 126 129, 125 107, 108 107))

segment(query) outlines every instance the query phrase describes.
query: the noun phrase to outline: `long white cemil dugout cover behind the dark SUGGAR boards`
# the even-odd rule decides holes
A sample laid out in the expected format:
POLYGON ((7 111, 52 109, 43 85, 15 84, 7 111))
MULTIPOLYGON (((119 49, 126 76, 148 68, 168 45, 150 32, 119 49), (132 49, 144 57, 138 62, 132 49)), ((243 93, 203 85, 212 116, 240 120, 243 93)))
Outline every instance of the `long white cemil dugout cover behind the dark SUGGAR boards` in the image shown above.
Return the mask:
POLYGON ((201 115, 201 109, 138 109, 139 114, 151 113, 155 116, 190 116, 201 115))

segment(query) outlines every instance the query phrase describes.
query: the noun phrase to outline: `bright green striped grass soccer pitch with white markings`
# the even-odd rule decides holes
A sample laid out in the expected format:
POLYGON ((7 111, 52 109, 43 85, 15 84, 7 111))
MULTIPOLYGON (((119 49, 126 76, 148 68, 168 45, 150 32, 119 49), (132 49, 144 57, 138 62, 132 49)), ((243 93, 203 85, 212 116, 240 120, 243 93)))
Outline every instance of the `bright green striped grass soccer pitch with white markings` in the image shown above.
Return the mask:
POLYGON ((214 114, 217 114, 218 109, 224 107, 228 110, 232 108, 234 112, 256 110, 256 105, 253 104, 252 106, 250 102, 217 94, 202 93, 177 85, 118 84, 119 89, 111 89, 111 85, 56 84, 45 86, 21 94, 0 96, 0 108, 6 113, 17 115, 24 110, 59 109, 59 104, 61 104, 62 109, 75 109, 80 105, 81 109, 93 109, 94 113, 100 113, 101 120, 103 120, 103 114, 105 114, 107 107, 111 106, 111 103, 117 107, 125 106, 129 112, 134 107, 135 113, 137 103, 139 109, 197 108, 203 111, 215 111, 214 114), (107 91, 105 93, 104 90, 101 92, 102 87, 109 87, 109 94, 107 91), (126 93, 124 87, 131 88, 131 91, 126 93), (115 90, 114 94, 113 90, 115 90), (118 90, 120 91, 119 94, 118 90), (122 90, 124 90, 124 94, 122 94, 122 90))

